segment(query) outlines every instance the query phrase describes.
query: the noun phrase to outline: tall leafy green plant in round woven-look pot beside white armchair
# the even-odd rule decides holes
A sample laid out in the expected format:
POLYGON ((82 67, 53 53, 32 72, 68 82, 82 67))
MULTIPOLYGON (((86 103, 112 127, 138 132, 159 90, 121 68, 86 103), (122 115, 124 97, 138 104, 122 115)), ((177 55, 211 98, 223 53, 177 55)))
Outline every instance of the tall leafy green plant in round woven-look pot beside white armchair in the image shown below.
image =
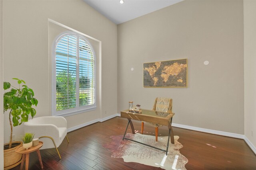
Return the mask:
POLYGON ((24 80, 17 80, 19 87, 12 86, 9 82, 4 82, 4 90, 11 89, 4 93, 4 113, 9 112, 10 142, 4 144, 4 170, 8 170, 20 164, 21 154, 17 154, 15 149, 22 145, 22 142, 12 142, 12 127, 21 125, 28 121, 29 115, 34 117, 36 110, 32 106, 37 106, 38 101, 34 98, 34 92, 26 86, 24 80), (21 86, 21 84, 24 84, 21 86), (20 87, 21 86, 21 87, 20 87))

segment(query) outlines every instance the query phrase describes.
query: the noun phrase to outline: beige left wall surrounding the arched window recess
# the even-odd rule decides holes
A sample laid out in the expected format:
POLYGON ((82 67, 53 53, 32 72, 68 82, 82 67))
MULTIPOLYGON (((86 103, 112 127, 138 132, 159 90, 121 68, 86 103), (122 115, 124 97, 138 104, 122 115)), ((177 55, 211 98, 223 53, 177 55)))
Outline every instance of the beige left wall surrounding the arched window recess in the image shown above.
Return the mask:
MULTIPOLYGON (((101 106, 66 117, 68 128, 117 113, 117 26, 82 0, 69 1, 3 1, 4 81, 22 78, 38 99, 36 117, 50 113, 50 56, 48 56, 48 18, 102 41, 102 57, 98 96, 101 106), (111 73, 111 74, 110 74, 111 73), (111 101, 111 102, 110 102, 111 101), (106 110, 106 114, 105 114, 106 110)), ((4 141, 9 139, 8 115, 4 141)), ((14 128, 16 139, 22 125, 14 128)))

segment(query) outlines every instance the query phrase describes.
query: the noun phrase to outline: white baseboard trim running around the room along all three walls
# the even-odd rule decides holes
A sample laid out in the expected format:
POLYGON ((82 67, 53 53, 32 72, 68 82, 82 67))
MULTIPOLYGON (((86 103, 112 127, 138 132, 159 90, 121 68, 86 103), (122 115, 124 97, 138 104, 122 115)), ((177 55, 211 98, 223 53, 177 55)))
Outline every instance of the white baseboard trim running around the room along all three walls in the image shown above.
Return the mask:
MULTIPOLYGON (((97 122, 103 122, 106 121, 108 119, 112 119, 116 116, 121 116, 120 113, 114 114, 114 115, 110 115, 108 117, 104 117, 102 119, 96 119, 93 121, 89 121, 87 123, 83 123, 81 125, 77 125, 74 127, 70 127, 68 128, 68 132, 74 131, 76 129, 80 129, 82 127, 91 125, 93 123, 97 123, 97 122)), ((244 139, 244 141, 247 143, 247 145, 252 149, 252 151, 256 154, 256 147, 249 141, 249 139, 241 134, 237 134, 237 133, 230 133, 230 132, 223 132, 223 131, 216 131, 216 130, 211 130, 211 129, 204 129, 204 128, 200 128, 200 127, 193 127, 193 126, 188 126, 188 125, 180 125, 180 124, 176 124, 176 123, 172 123, 173 127, 180 127, 180 128, 184 128, 184 129, 190 129, 190 130, 194 130, 194 131, 200 131, 200 132, 206 132, 206 133, 212 133, 215 135, 223 135, 223 136, 227 136, 227 137, 235 137, 235 138, 239 138, 239 139, 244 139)))

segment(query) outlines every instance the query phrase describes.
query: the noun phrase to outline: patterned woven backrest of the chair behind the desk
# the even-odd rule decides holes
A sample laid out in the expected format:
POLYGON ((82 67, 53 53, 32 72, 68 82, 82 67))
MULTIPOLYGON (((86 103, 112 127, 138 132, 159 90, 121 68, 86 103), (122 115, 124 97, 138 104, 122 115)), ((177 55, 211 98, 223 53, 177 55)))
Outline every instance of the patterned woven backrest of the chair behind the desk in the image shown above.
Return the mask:
POLYGON ((170 99, 170 98, 156 98, 152 110, 172 113, 172 99, 170 99))

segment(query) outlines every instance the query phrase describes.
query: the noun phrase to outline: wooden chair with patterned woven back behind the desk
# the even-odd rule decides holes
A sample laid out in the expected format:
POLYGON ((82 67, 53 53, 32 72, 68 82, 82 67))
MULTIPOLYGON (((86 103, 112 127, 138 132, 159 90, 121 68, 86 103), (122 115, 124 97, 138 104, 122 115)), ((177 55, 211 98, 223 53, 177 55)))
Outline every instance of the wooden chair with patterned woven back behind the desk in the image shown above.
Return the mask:
MULTIPOLYGON (((164 111, 164 112, 172 113, 172 99, 170 99, 170 98, 156 98, 152 110, 164 111)), ((143 134, 144 123, 152 125, 152 126, 154 126, 156 128, 155 129, 156 141, 158 141, 158 127, 161 127, 162 125, 158 125, 158 124, 155 124, 155 123, 150 123, 150 122, 142 121, 141 122, 141 134, 143 134)))

